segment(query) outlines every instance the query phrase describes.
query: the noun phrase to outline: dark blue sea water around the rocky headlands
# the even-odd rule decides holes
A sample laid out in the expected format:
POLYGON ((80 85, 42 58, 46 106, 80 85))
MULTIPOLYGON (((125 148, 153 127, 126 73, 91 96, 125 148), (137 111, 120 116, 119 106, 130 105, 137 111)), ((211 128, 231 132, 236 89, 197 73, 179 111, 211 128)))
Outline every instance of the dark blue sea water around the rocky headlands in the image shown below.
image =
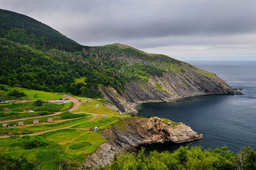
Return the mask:
POLYGON ((182 122, 203 134, 202 139, 188 143, 147 145, 146 151, 173 151, 190 143, 204 149, 226 145, 233 152, 251 146, 256 151, 256 62, 189 63, 217 74, 233 88, 244 88, 244 95, 207 95, 140 105, 139 115, 182 122))

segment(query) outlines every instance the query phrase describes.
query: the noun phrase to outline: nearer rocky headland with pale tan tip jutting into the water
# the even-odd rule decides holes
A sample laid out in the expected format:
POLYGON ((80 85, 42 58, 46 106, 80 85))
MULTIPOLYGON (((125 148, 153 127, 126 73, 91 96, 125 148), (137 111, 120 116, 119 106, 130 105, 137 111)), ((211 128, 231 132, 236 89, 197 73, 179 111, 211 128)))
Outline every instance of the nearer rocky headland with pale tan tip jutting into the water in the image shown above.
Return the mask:
POLYGON ((193 131, 183 123, 168 119, 130 118, 117 122, 109 129, 102 131, 102 137, 108 142, 101 144, 92 155, 88 156, 83 165, 98 167, 106 165, 115 153, 127 152, 142 144, 164 143, 171 141, 181 143, 202 138, 202 134, 193 131))

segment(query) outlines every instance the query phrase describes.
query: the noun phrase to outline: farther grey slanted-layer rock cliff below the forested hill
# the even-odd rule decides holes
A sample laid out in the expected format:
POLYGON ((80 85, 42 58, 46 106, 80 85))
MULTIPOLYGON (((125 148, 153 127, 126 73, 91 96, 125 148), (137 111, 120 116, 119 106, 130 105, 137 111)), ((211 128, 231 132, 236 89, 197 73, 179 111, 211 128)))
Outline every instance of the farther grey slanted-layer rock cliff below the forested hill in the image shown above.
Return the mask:
POLYGON ((145 102, 164 102, 206 94, 241 94, 215 74, 188 66, 182 66, 183 72, 150 76, 148 81, 131 80, 124 85, 124 91, 120 90, 121 95, 113 87, 101 86, 100 90, 121 111, 133 114, 137 113, 135 106, 145 102))

